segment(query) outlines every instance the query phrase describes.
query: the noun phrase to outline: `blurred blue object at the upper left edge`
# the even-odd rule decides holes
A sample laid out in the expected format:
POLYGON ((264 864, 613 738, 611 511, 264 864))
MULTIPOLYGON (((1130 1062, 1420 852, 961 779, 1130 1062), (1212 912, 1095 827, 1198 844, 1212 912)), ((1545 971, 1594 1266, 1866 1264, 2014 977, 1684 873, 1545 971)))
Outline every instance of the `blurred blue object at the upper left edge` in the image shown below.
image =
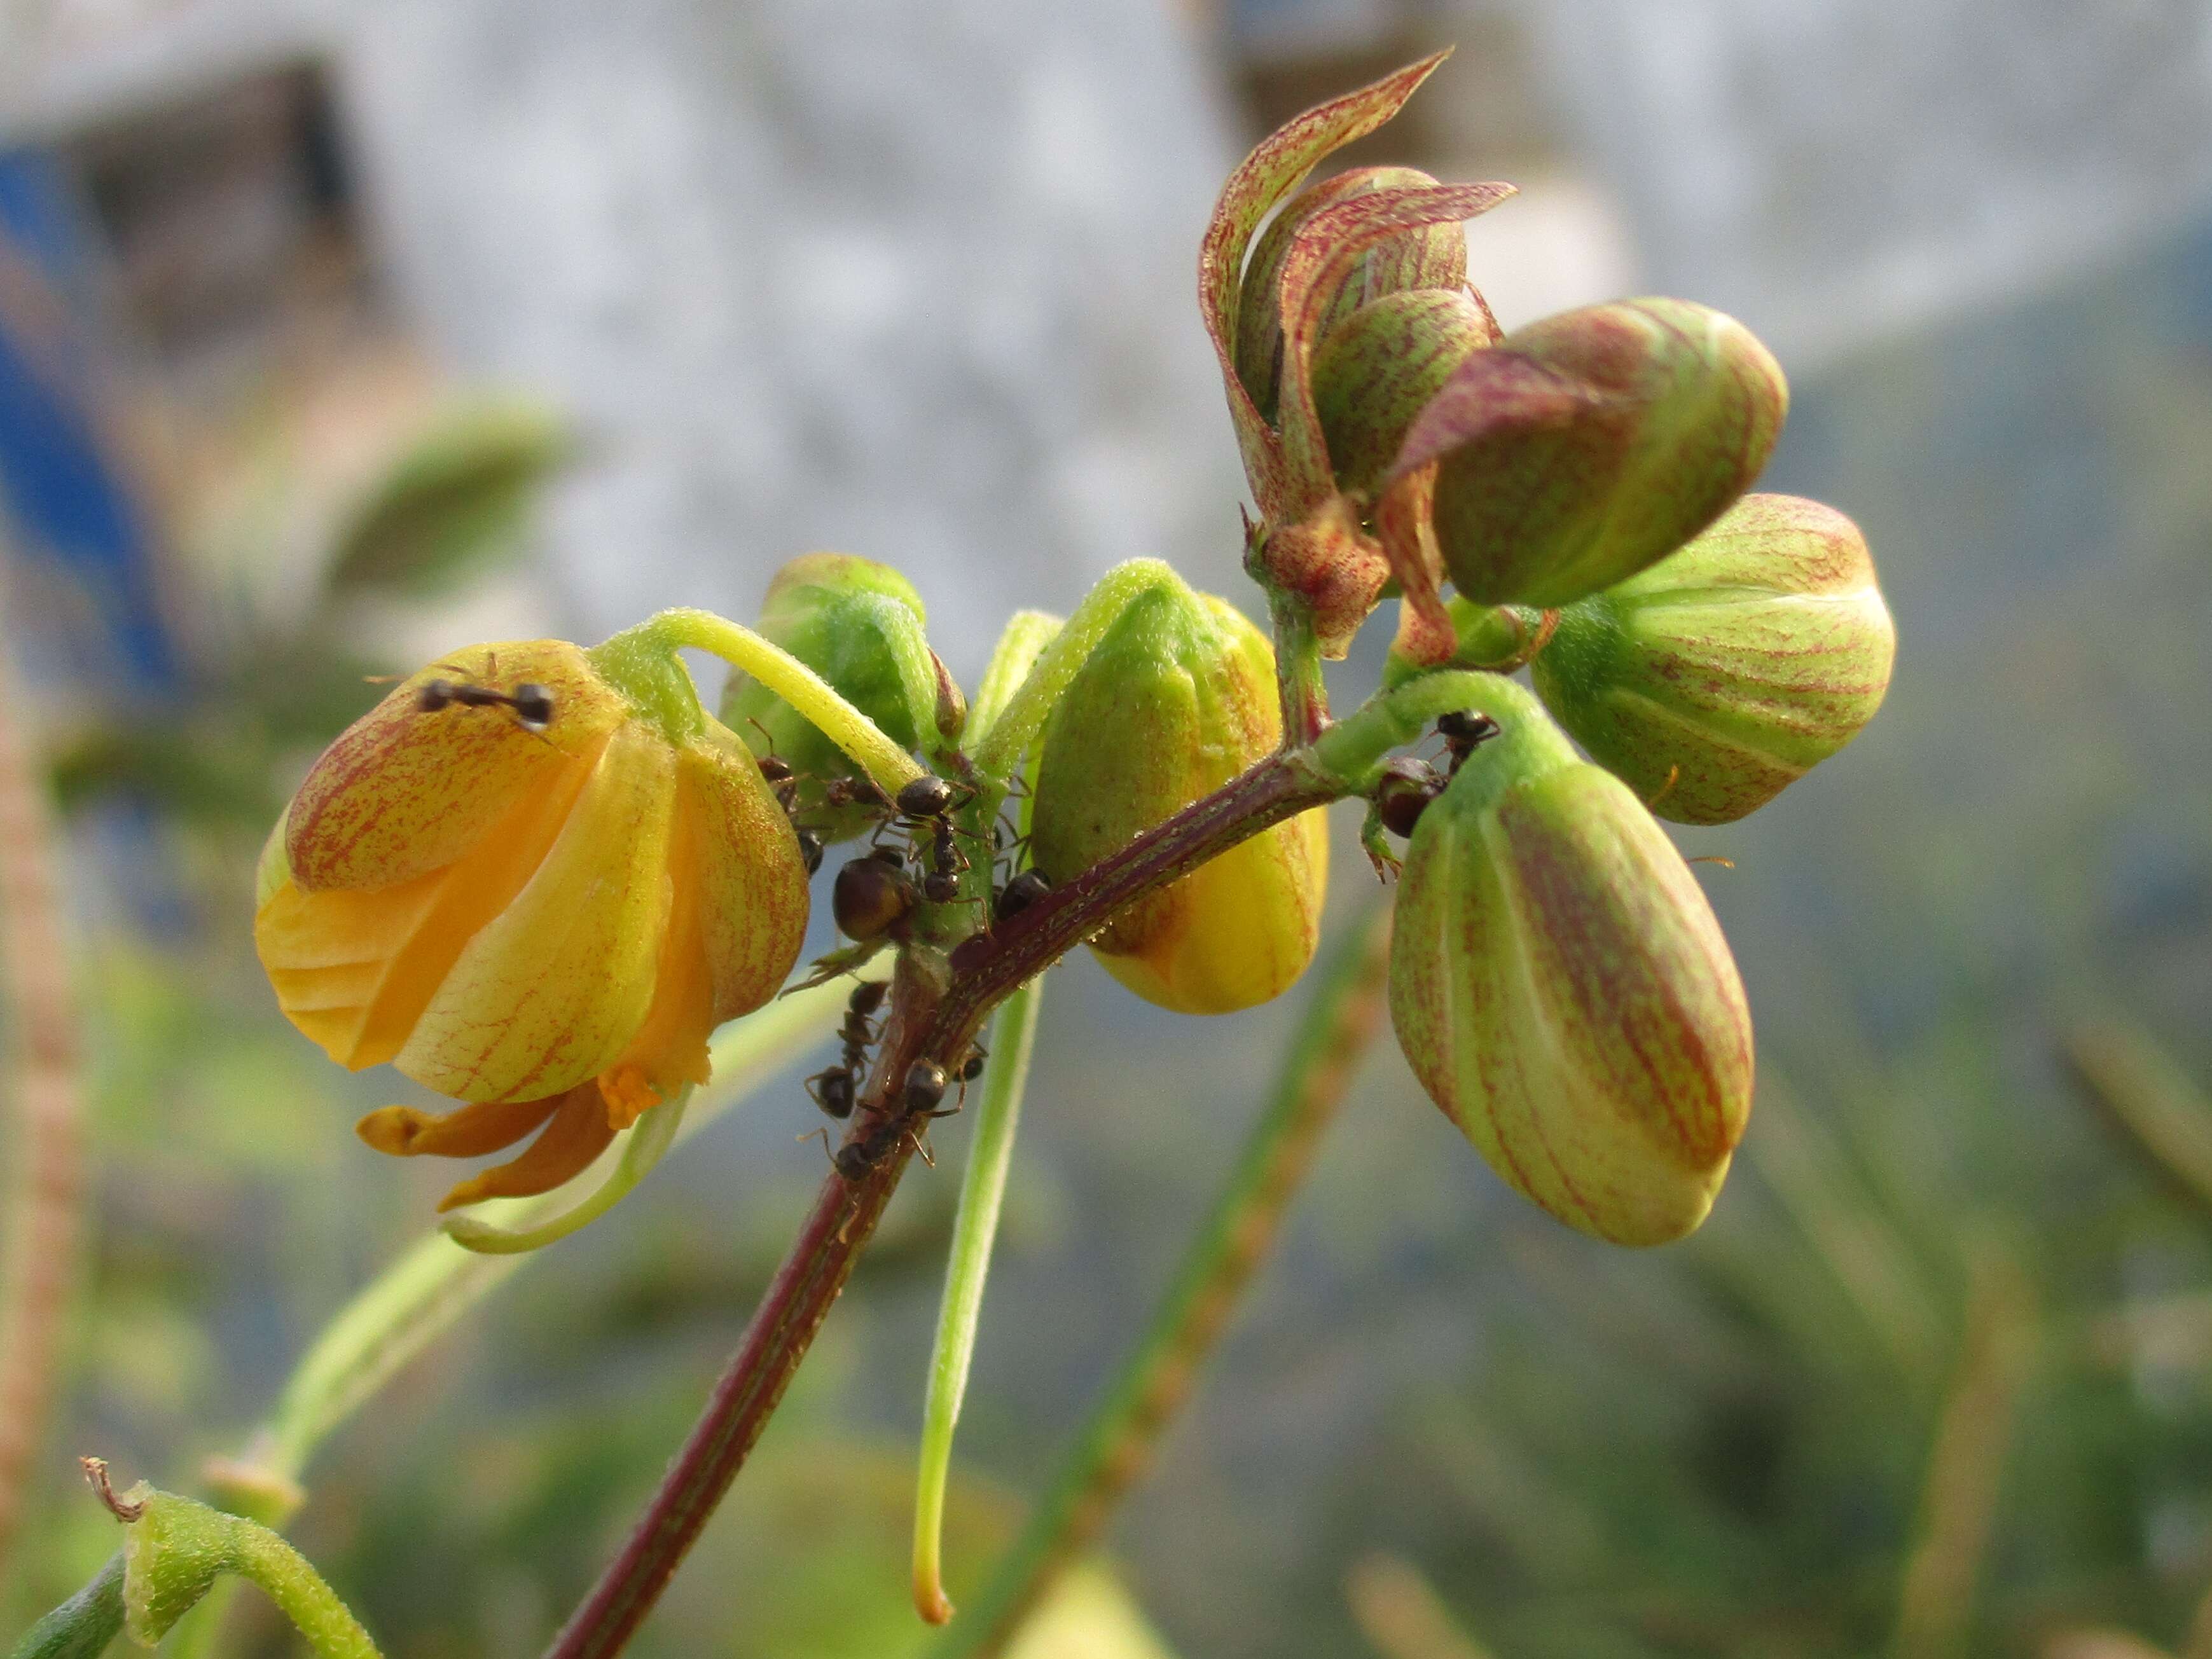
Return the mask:
POLYGON ((93 265, 55 159, 0 150, 0 500, 24 551, 84 591, 115 672, 150 692, 177 684, 177 650, 153 535, 93 409, 80 325, 93 265))

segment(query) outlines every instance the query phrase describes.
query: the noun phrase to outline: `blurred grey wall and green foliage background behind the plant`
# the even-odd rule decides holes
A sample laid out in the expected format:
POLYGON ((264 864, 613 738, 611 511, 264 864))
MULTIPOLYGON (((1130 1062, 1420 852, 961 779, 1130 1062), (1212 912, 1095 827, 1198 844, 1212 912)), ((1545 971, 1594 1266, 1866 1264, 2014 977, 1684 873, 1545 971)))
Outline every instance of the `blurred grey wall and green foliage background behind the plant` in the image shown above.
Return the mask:
MULTIPOLYGON (((248 936, 361 677, 752 617, 816 546, 905 568, 969 684, 1013 604, 1130 555, 1250 606, 1206 212, 1272 124, 1447 42, 1338 161, 1520 184, 1471 230, 1506 327, 1632 292, 1750 323, 1794 383, 1765 487, 1867 531, 1898 677, 1843 757, 1681 836, 1734 860, 1699 869, 1761 1033, 1712 1223, 1564 1232, 1378 1044, 1119 1579, 1190 1659, 2212 1655, 2188 0, 0 0, 0 695, 53 787, 93 1159, 0 1639, 115 1546, 73 1455, 190 1486, 442 1186, 354 1141, 407 1086, 292 1033, 248 936)), ((1051 978, 971 1575, 1298 1004, 1051 978)), ((294 1535, 389 1652, 535 1652, 588 1584, 821 1179, 803 1060, 316 1467, 294 1535)), ((918 1650, 883 1610, 964 1126, 936 1139, 637 1652, 918 1650)), ((226 1650, 285 1650, 241 1615, 226 1650)))

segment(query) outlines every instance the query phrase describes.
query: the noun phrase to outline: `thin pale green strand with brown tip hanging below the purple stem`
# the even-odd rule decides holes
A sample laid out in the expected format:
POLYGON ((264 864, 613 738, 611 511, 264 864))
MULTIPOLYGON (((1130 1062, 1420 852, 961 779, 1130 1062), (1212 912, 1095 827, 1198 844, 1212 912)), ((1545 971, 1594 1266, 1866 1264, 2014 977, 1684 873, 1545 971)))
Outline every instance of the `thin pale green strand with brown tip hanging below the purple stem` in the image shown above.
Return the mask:
POLYGON ((953 1617, 945 1599, 945 1486, 953 1462, 953 1427, 967 1394, 975 1356, 975 1325, 982 1314, 991 1245, 998 1241, 1000 1201, 1013 1166, 1013 1130, 1022 1121, 1022 1091, 1029 1055, 1037 1037, 1037 1006, 1044 980, 1031 980, 1006 998, 991 1022, 991 1060, 982 1073, 982 1106, 975 1146, 960 1181, 960 1217, 953 1223, 951 1263, 945 1270, 945 1303, 938 1310, 938 1340, 929 1356, 929 1398, 922 1405, 922 1462, 914 1493, 914 1606, 929 1624, 953 1617))

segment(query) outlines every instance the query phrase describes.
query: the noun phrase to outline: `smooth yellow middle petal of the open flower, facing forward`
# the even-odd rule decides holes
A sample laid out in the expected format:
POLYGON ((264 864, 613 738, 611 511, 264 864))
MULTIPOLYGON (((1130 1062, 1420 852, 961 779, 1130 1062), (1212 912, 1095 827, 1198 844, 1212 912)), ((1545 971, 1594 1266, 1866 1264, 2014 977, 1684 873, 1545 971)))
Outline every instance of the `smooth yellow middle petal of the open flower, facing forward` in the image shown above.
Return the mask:
POLYGON ((624 723, 544 863, 462 949, 394 1064, 456 1099, 566 1093, 606 1071, 653 1004, 672 805, 675 750, 624 723))

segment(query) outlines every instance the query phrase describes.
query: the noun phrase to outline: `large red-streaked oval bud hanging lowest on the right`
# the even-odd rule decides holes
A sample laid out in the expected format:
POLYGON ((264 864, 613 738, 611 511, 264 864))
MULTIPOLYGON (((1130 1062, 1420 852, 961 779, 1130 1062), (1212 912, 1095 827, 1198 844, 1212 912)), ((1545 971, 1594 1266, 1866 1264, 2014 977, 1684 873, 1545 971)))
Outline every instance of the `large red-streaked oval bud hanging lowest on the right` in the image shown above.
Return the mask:
POLYGON ((1752 1104, 1743 984, 1666 832, 1533 701, 1413 825, 1389 1000, 1436 1104, 1559 1221, 1705 1219, 1752 1104))

